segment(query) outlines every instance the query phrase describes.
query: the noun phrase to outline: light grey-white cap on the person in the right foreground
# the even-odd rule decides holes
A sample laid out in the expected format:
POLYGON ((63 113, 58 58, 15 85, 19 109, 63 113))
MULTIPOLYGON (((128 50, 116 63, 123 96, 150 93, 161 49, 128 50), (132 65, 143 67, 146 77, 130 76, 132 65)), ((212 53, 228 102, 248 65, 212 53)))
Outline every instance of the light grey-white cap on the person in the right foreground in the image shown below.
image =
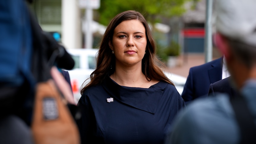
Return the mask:
POLYGON ((215 4, 217 31, 256 46, 256 0, 216 0, 215 4))

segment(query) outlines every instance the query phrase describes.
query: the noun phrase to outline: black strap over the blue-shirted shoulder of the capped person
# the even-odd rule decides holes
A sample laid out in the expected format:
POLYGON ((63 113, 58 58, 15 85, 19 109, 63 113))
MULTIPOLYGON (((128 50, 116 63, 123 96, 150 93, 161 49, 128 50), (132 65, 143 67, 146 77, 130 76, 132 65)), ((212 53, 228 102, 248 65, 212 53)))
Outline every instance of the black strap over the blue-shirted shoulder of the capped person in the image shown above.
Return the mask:
POLYGON ((246 100, 243 96, 239 95, 234 99, 230 99, 230 101, 240 128, 240 143, 255 143, 256 126, 246 100))

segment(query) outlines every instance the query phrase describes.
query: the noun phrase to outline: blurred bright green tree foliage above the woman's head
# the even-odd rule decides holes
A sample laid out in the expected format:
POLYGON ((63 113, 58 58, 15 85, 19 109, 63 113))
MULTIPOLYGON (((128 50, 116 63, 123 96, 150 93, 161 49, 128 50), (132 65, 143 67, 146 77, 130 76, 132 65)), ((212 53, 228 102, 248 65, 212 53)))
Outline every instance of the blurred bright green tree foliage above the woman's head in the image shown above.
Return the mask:
POLYGON ((185 12, 183 4, 198 0, 101 0, 100 8, 94 10, 94 19, 103 25, 120 12, 136 10, 151 23, 161 22, 162 18, 180 16, 185 12))

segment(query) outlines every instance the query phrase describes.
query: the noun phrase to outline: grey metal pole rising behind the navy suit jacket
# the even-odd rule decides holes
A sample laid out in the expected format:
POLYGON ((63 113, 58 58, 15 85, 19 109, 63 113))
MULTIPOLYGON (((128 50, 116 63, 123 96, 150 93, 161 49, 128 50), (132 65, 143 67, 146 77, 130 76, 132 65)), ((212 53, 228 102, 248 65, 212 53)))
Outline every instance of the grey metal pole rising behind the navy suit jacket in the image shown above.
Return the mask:
POLYGON ((212 26, 211 26, 211 15, 212 15, 212 0, 206 0, 206 21, 205 21, 205 62, 212 60, 212 26))

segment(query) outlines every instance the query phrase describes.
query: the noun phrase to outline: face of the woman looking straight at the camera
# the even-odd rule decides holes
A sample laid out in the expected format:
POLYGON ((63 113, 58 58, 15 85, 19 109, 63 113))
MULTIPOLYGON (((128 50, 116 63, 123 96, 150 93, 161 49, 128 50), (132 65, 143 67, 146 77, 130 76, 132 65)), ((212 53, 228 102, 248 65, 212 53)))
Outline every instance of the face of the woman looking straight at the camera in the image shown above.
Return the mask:
POLYGON ((141 64, 147 45, 146 30, 138 20, 124 20, 115 29, 111 50, 116 56, 116 64, 132 66, 141 64))

